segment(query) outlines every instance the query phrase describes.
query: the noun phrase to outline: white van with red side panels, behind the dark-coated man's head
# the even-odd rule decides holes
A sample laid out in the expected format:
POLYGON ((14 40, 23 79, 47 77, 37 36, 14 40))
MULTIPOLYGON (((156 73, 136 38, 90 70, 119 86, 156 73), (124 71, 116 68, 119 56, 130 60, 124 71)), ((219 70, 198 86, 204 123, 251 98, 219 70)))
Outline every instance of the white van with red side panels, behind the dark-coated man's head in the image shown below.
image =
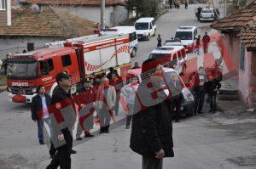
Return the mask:
POLYGON ((184 74, 187 68, 187 54, 183 46, 162 46, 154 49, 148 59, 157 59, 161 65, 171 67, 178 74, 184 74), (172 61, 173 65, 170 65, 172 61))

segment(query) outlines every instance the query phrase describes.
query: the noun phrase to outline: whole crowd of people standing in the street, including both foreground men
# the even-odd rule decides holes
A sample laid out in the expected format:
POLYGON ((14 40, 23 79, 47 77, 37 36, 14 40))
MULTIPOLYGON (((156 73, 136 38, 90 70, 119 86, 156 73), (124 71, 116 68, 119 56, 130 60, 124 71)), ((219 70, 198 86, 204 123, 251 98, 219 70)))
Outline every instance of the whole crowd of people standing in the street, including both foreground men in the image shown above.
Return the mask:
MULTIPOLYGON (((155 68, 160 72, 158 66, 160 65, 155 59, 148 59, 142 65, 142 73, 155 68)), ((139 65, 136 63, 132 69, 137 68, 139 65)), ((195 115, 202 113, 206 94, 209 95, 210 111, 217 109, 216 89, 220 84, 215 78, 216 72, 205 72, 201 67, 199 72, 189 79, 195 92, 195 115)), ((161 102, 155 100, 155 104, 146 109, 138 108, 142 100, 137 99, 137 93, 148 94, 147 90, 141 87, 138 76, 131 76, 129 84, 124 87, 125 83, 118 71, 110 68, 108 74, 86 78, 82 89, 74 94, 70 92, 71 78, 66 72, 58 74, 58 86, 55 87, 52 97, 45 93, 44 86, 40 86, 38 95, 32 99, 32 120, 38 124, 39 144, 44 144, 44 125, 47 125, 50 131, 49 155, 52 161, 47 169, 55 169, 58 166, 61 169, 71 168, 71 155, 76 153, 73 150, 73 130, 77 119, 79 123, 75 139, 78 141, 83 139, 83 132, 84 138, 94 137, 90 130, 95 123, 100 125, 99 133, 108 133, 111 120, 115 121, 115 115, 119 115, 119 104, 122 104, 126 113, 125 128, 129 129, 132 125, 131 149, 143 155, 143 168, 162 168, 162 159, 174 155, 172 119, 180 121, 183 89, 177 75, 172 74, 166 81, 166 88, 170 88, 172 97, 168 96, 168 99, 161 102), (65 122, 62 124, 60 121, 65 122)), ((150 87, 152 90, 162 86, 162 81, 150 76, 149 82, 153 84, 150 87)))

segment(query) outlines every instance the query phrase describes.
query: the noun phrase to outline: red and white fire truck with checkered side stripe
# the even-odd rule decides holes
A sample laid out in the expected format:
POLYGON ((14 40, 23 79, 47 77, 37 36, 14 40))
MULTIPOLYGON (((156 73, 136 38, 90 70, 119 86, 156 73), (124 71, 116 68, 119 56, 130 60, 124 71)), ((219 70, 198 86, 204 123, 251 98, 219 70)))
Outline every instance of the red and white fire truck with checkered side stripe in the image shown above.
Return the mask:
POLYGON ((26 54, 15 54, 8 61, 9 100, 31 103, 37 87, 44 85, 50 92, 55 87, 55 76, 61 71, 72 76, 73 93, 79 90, 86 76, 108 73, 110 67, 125 78, 127 70, 131 69, 129 44, 128 36, 92 35, 49 43, 49 48, 26 54))

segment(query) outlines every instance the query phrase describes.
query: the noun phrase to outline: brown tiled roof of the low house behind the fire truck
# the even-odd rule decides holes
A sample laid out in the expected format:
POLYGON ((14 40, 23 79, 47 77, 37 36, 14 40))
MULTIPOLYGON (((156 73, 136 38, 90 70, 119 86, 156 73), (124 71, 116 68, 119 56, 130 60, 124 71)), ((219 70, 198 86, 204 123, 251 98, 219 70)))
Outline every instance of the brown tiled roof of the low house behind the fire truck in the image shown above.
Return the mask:
POLYGON ((44 7, 41 11, 29 8, 12 9, 12 25, 0 27, 0 36, 80 37, 96 30, 96 23, 44 7))

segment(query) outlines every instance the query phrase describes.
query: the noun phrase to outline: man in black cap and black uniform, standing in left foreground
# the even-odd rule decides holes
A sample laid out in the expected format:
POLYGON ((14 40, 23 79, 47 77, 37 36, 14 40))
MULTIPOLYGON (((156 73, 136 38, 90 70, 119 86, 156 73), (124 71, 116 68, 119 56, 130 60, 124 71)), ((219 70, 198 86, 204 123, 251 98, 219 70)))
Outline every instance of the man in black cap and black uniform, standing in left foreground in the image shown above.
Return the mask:
POLYGON ((51 152, 55 155, 52 154, 53 159, 46 169, 56 169, 58 166, 61 169, 70 169, 70 155, 76 153, 72 149, 72 131, 76 121, 76 113, 73 98, 70 94, 70 80, 71 76, 65 72, 56 76, 58 86, 54 89, 51 103, 51 126, 53 130, 51 141, 55 148, 53 150, 53 146, 51 146, 51 152))

